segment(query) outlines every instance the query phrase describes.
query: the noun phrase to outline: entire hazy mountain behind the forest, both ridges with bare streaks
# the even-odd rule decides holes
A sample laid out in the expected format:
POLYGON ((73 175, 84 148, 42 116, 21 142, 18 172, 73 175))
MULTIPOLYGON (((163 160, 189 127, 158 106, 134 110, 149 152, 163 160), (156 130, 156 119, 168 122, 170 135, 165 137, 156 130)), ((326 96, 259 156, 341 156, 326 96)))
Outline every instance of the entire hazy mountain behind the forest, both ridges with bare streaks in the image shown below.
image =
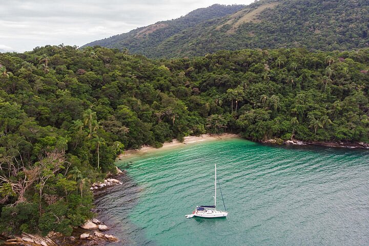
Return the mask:
MULTIPOLYGON (((369 47, 368 0, 261 0, 213 5, 85 46, 128 49, 148 57, 204 55, 220 49, 369 47)), ((84 47, 85 47, 84 46, 84 47)))

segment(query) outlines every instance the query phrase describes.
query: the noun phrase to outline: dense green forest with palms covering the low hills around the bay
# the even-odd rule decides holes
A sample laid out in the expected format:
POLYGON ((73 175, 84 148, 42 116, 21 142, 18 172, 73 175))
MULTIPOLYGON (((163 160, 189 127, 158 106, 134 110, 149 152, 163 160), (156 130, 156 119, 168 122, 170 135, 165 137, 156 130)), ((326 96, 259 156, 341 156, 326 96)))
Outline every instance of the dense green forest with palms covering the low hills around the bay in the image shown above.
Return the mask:
POLYGON ((222 132, 369 142, 368 67, 369 49, 0 53, 0 232, 70 235, 125 149, 222 132))

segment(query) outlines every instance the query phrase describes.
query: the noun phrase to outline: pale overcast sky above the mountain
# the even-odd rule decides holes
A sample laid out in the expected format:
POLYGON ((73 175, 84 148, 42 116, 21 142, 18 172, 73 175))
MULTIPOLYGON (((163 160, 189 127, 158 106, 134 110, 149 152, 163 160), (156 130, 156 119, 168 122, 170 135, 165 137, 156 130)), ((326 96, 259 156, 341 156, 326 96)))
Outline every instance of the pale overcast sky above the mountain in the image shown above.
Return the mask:
POLYGON ((213 4, 252 2, 254 0, 3 0, 0 50, 23 52, 36 46, 61 43, 82 46, 213 4))

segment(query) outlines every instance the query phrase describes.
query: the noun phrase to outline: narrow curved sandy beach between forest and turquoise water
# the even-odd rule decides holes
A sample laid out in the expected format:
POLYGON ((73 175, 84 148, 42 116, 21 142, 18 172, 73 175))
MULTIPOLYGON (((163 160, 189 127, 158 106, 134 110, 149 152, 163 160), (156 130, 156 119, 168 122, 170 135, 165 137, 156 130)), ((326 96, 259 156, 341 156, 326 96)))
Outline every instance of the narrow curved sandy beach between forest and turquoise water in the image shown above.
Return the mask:
POLYGON ((178 148, 185 145, 191 145, 202 141, 214 141, 214 140, 221 140, 221 139, 229 139, 229 138, 238 138, 239 135, 230 134, 230 133, 223 133, 219 135, 210 135, 210 134, 203 134, 200 136, 188 136, 185 137, 183 142, 178 141, 177 139, 173 139, 171 142, 165 142, 161 148, 154 148, 152 146, 142 146, 139 150, 126 150, 123 154, 118 156, 118 159, 122 157, 132 156, 132 155, 141 155, 145 153, 160 151, 164 149, 171 149, 171 148, 178 148))

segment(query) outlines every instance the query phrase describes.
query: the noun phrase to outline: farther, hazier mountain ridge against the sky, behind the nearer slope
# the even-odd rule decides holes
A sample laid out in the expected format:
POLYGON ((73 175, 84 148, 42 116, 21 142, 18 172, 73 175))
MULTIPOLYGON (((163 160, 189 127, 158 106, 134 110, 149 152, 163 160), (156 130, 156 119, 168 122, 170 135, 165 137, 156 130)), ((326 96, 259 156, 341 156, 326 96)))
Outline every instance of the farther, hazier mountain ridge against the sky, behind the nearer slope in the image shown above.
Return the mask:
MULTIPOLYGON (((104 46, 109 48, 129 49, 130 52, 148 54, 150 48, 159 46, 161 42, 194 27, 209 19, 220 18, 243 9, 244 5, 214 4, 208 8, 196 9, 177 19, 157 22, 147 27, 137 28, 128 33, 115 35, 91 42, 85 46, 104 46)), ((85 47, 83 46, 83 47, 85 47)), ((150 55, 149 55, 150 56, 150 55)))

